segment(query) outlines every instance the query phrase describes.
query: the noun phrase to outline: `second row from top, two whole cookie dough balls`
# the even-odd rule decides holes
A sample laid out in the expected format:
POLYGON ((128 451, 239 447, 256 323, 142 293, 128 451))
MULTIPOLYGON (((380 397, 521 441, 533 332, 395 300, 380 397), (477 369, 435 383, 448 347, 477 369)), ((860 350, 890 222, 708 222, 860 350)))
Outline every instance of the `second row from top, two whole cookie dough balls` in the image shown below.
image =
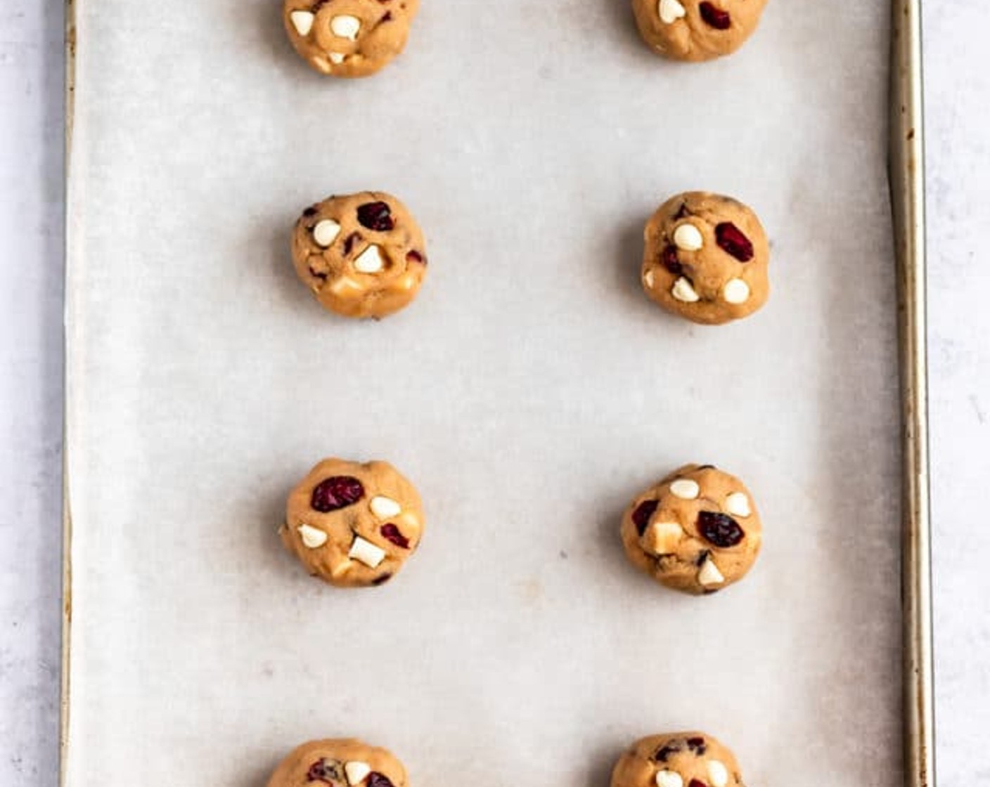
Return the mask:
MULTIPOLYGON (((296 273, 326 309, 380 319, 408 306, 427 273, 423 232, 383 192, 330 197, 307 208, 292 234, 296 273)), ((769 296, 770 246, 756 214, 719 194, 667 200, 646 223, 643 288, 695 323, 748 317, 769 296)))

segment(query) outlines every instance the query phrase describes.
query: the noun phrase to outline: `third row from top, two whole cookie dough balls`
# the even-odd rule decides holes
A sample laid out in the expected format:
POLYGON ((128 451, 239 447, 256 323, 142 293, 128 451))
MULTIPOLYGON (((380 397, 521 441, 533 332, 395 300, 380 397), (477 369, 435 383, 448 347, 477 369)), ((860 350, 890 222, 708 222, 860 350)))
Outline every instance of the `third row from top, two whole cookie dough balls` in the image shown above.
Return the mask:
MULTIPOLYGON (((391 464, 325 459, 289 494, 279 535, 311 575, 369 587, 399 572, 425 524, 419 493, 391 464)), ((762 527, 739 478, 687 464, 632 502, 620 533, 637 568, 667 587, 708 595, 752 567, 762 527)))

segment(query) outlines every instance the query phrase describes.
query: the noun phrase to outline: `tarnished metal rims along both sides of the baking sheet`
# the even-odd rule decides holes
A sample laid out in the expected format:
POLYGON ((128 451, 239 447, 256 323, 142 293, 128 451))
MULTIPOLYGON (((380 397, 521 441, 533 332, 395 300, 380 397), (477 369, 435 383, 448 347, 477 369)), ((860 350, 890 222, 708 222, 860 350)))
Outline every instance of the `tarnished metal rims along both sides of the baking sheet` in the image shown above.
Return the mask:
MULTIPOLYGON (((77 0, 65 2, 65 179, 72 174, 77 0)), ((932 644, 931 511, 927 287, 925 256, 925 142, 922 91, 921 0, 891 0, 890 191, 897 258, 901 365, 903 723, 905 787, 935 787, 935 695, 932 644)), ((68 202, 68 189, 66 201, 68 202)), ((68 207, 68 206, 67 206, 68 207)), ((66 216, 70 216, 66 210, 66 216)), ((68 228, 66 222, 66 268, 68 228)), ((66 336, 67 338, 67 336, 66 336)), ((66 352, 67 360, 67 352, 66 352)), ((67 368, 66 363, 66 368, 67 368)), ((66 373, 67 381, 67 373, 66 373)), ((65 386, 66 436, 68 385, 65 386)), ((63 468, 67 468, 68 440, 63 468)), ((72 516, 63 472, 62 647, 59 784, 65 787, 71 712, 72 516)))

